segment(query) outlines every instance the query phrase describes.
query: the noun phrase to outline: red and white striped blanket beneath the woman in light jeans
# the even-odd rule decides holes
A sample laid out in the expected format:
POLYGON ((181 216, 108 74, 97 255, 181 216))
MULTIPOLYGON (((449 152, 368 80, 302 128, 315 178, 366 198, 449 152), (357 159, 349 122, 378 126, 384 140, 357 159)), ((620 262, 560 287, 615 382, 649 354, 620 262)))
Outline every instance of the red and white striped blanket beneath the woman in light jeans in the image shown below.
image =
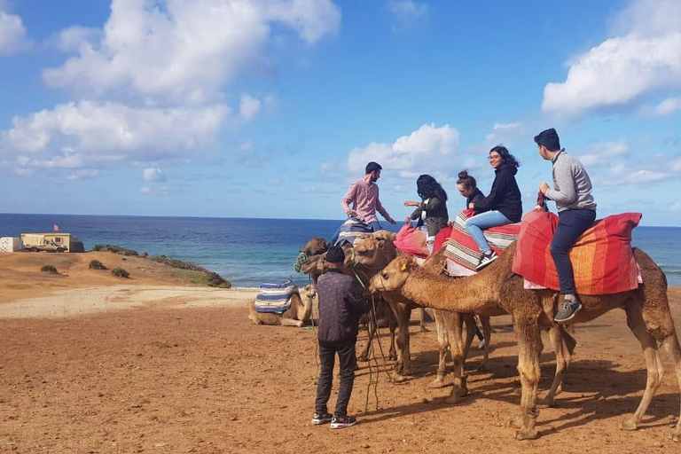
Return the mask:
MULTIPOLYGON (((448 259, 469 271, 474 271, 481 259, 480 248, 475 240, 466 233, 466 219, 474 214, 472 209, 465 209, 457 215, 450 238, 445 242, 446 249, 444 251, 444 255, 448 259)), ((497 254, 501 254, 506 247, 518 239, 520 231, 520 223, 509 223, 501 227, 492 227, 482 231, 482 233, 489 242, 489 247, 497 254)), ((437 242, 435 242, 435 250, 437 250, 437 242)), ((461 274, 457 273, 457 275, 461 274)))

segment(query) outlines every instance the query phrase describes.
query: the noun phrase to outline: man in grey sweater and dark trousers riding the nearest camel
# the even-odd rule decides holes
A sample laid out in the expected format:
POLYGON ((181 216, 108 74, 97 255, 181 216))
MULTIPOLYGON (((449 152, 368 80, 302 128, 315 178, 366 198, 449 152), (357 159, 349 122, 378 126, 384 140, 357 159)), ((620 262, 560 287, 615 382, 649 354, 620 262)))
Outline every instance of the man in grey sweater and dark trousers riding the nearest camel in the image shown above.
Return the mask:
POLYGON ((575 317, 582 303, 575 296, 575 274, 569 251, 596 219, 596 202, 591 195, 591 178, 582 163, 560 148, 556 129, 546 129, 535 137, 539 155, 553 164, 553 189, 543 182, 539 191, 556 202, 559 221, 551 241, 551 255, 558 271, 563 306, 553 319, 564 323, 575 317))

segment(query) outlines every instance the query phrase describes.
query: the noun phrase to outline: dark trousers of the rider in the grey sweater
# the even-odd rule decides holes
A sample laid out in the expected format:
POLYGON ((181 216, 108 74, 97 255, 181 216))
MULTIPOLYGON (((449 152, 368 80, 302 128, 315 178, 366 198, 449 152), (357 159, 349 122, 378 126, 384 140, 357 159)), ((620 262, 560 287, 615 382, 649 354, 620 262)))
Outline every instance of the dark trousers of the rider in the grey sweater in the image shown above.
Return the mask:
POLYGON ((575 272, 568 253, 584 231, 596 220, 592 209, 566 209, 559 214, 558 225, 551 241, 551 256, 558 271, 560 294, 575 294, 575 272))

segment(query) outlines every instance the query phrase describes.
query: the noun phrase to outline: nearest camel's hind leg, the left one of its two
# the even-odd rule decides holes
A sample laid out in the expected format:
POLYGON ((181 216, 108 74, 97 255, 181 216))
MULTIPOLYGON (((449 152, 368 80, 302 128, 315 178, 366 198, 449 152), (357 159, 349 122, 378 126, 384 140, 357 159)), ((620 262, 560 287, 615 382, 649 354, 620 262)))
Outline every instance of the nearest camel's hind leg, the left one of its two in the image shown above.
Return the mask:
POLYGON ((657 340, 655 340, 653 335, 648 333, 648 330, 646 329, 641 307, 631 304, 626 309, 626 312, 627 325, 629 325, 631 332, 634 333, 641 343, 641 348, 643 348, 643 356, 646 359, 647 370, 646 390, 643 392, 641 403, 638 404, 638 409, 631 415, 630 419, 627 419, 622 423, 622 429, 636 430, 638 428, 638 423, 641 422, 641 419, 643 419, 643 416, 646 414, 648 405, 650 405, 650 402, 653 400, 655 391, 657 391, 657 388, 661 385, 664 368, 662 367, 660 352, 657 349, 657 340))

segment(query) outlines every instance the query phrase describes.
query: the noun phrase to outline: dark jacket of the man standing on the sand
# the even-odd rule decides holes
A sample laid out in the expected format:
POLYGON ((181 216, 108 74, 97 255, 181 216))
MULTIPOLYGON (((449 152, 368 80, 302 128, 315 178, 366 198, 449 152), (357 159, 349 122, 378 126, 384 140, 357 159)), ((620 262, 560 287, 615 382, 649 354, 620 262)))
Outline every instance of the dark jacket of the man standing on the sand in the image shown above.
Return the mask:
POLYGON ((356 280, 339 270, 328 270, 317 280, 320 342, 347 345, 357 340, 359 317, 369 312, 356 280))

